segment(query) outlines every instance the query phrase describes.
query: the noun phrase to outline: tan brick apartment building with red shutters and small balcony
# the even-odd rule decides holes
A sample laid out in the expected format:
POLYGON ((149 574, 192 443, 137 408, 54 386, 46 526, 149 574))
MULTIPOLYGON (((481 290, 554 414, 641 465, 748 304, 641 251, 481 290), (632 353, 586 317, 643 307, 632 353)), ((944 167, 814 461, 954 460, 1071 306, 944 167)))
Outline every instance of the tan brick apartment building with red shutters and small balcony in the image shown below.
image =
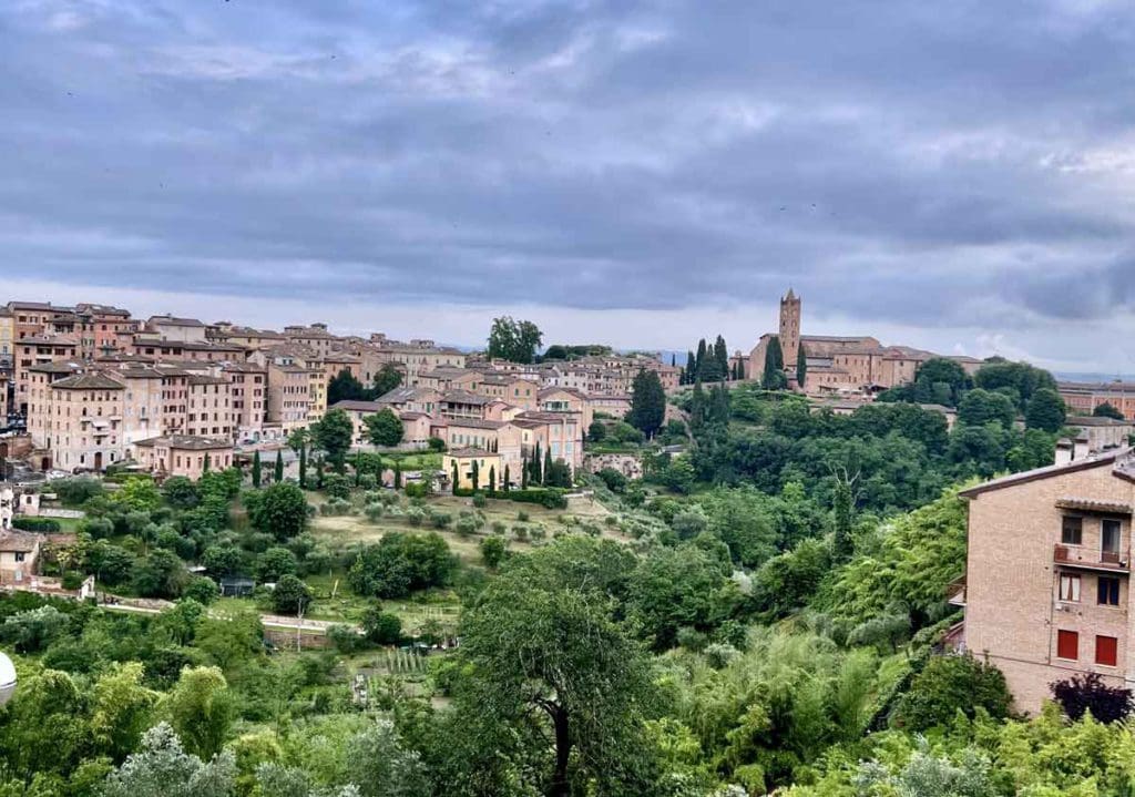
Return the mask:
POLYGON ((969 504, 965 646, 1004 673, 1018 708, 1099 673, 1135 686, 1135 454, 1066 441, 1058 464, 964 490, 969 504))

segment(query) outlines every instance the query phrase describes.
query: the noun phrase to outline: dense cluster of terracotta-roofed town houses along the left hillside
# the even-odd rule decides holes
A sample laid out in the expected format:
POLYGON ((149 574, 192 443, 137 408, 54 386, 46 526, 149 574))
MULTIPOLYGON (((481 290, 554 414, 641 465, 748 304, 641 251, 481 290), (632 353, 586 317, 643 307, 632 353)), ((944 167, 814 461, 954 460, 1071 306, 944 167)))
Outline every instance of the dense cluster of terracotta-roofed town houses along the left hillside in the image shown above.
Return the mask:
MULTIPOLYGON (((335 335, 325 324, 281 332, 228 321, 153 316, 96 305, 0 307, 0 418, 19 418, 37 469, 101 471, 131 462, 200 476, 241 446, 284 441, 320 420, 343 371, 371 385, 384 369, 401 385, 368 402, 339 402, 367 445, 363 418, 403 421, 403 447, 430 438, 491 451, 519 465, 533 450, 573 470, 595 412, 622 417, 644 368, 664 387, 679 369, 649 355, 607 355, 527 366, 487 360, 432 341, 335 335)), ((519 467, 512 472, 520 472, 519 467)))

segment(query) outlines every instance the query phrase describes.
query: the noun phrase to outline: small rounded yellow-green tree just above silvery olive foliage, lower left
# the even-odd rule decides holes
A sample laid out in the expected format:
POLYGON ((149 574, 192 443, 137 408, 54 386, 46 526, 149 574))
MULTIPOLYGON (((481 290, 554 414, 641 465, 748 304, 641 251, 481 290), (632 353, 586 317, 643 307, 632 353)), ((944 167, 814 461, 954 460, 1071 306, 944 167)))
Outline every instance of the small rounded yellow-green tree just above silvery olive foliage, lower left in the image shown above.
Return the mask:
POLYGON ((235 704, 220 670, 196 666, 182 671, 166 700, 166 712, 186 750, 208 760, 225 745, 235 704))

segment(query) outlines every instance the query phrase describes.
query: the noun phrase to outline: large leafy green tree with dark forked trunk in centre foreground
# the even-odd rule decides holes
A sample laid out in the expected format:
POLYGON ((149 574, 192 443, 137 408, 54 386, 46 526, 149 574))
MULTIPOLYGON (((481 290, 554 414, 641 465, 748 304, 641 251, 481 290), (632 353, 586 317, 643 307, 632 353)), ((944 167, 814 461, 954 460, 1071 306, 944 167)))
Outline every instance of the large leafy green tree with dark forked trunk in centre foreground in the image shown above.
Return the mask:
POLYGON ((528 762, 512 767, 516 777, 536 778, 527 789, 552 797, 585 785, 596 794, 650 790, 641 746, 650 679, 613 616, 609 581, 591 564, 598 545, 510 560, 462 618, 454 719, 476 743, 462 766, 488 775, 494 760, 528 762))

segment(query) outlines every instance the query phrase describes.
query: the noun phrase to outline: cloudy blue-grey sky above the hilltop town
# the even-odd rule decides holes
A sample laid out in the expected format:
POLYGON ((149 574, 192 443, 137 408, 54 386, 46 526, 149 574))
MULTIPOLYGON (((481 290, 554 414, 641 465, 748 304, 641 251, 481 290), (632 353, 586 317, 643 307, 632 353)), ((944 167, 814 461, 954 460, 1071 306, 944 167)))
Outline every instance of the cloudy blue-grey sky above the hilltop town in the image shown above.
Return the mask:
POLYGON ((1128 0, 3 0, 0 297, 1135 374, 1128 0))

